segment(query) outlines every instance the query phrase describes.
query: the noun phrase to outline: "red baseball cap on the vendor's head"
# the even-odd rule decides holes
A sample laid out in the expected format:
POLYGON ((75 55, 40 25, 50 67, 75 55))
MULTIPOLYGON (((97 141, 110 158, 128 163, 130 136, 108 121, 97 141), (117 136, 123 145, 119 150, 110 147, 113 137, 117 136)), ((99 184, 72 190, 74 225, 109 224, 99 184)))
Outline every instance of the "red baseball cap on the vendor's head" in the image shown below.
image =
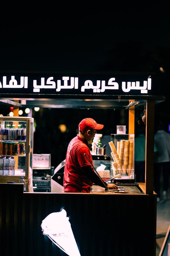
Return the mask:
POLYGON ((79 131, 84 132, 89 129, 101 130, 104 125, 97 124, 92 118, 84 118, 79 124, 79 131))

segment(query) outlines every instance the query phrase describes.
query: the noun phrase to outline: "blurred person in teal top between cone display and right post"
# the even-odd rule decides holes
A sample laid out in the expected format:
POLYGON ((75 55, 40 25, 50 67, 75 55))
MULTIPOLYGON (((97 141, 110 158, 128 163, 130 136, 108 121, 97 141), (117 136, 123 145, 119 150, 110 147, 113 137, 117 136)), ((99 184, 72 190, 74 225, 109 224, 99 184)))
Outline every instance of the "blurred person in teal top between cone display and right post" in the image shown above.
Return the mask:
MULTIPOLYGON (((145 146, 146 146, 146 129, 140 124, 135 127, 135 157, 134 167, 136 182, 145 183, 145 146)), ((154 153, 157 151, 154 143, 154 153)))

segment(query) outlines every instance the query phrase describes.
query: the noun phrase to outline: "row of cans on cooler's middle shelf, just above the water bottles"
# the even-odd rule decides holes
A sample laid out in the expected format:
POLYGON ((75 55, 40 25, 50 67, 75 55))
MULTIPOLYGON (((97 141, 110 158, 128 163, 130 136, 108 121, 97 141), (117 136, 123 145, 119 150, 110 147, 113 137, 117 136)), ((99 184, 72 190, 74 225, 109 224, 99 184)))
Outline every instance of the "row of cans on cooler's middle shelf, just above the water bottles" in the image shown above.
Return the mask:
POLYGON ((26 154, 25 142, 0 141, 0 155, 19 156, 26 154))

